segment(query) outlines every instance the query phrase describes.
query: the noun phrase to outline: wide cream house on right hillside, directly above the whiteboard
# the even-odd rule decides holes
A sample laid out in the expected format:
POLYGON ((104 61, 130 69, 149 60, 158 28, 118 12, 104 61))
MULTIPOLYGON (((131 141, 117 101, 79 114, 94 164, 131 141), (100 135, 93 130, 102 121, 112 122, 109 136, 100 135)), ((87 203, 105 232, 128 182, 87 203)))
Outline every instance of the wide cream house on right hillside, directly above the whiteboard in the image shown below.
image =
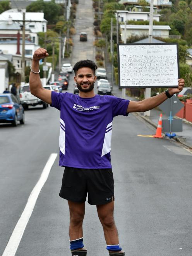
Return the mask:
MULTIPOLYGON (((125 38, 125 24, 120 24, 121 29, 121 40, 124 41, 125 38)), ((161 38, 169 37, 170 26, 153 26, 153 36, 158 36, 161 38)), ((126 36, 127 38, 132 35, 137 36, 148 36, 149 34, 149 25, 126 25, 126 36)))

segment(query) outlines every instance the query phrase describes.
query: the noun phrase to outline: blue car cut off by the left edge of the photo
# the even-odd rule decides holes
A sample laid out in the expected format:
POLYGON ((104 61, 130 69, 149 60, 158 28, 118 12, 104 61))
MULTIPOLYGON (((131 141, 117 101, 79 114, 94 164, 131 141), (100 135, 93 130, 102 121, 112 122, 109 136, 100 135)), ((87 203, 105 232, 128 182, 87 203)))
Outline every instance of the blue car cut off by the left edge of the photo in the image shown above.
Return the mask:
POLYGON ((0 123, 12 123, 17 126, 25 123, 24 108, 19 100, 11 93, 0 94, 0 123))

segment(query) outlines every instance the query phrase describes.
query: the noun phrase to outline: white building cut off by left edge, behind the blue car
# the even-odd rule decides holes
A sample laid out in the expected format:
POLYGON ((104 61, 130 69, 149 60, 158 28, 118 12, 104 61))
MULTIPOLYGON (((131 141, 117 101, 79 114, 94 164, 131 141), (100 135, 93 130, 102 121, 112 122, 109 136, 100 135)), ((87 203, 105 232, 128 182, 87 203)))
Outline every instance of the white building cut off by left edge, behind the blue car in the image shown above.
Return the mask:
POLYGON ((8 58, 0 55, 0 93, 3 93, 5 88, 9 88, 8 61, 8 58))

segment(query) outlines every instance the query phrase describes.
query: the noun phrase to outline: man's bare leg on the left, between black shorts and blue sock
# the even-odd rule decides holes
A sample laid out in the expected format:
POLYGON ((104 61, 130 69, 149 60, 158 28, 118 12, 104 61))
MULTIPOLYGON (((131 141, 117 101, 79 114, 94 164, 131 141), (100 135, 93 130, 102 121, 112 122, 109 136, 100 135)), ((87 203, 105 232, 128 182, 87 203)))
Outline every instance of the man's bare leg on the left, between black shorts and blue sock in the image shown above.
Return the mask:
POLYGON ((85 215, 85 203, 68 201, 70 213, 69 237, 75 240, 83 237, 82 223, 85 215))

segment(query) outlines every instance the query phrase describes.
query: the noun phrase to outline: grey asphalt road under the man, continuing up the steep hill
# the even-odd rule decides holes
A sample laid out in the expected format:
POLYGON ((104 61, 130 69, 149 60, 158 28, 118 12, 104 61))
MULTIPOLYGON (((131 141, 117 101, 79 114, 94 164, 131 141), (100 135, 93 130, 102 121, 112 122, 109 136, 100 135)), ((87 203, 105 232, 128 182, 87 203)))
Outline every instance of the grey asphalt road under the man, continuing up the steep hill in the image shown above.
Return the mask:
MULTIPOLYGON (((91 24, 91 5, 91 1, 79 0, 78 19, 89 19, 91 24)), ((77 50, 75 47, 86 52, 84 42, 76 42, 77 50)), ((73 91, 72 76, 68 91, 73 91)), ((25 113, 24 125, 0 125, 0 255, 31 191, 47 170, 50 155, 59 153, 59 111, 30 107, 25 113)), ((154 134, 154 130, 132 114, 114 118, 111 162, 120 246, 126 256, 191 256, 192 155, 166 139, 138 134, 154 134)), ((58 196, 62 175, 57 155, 34 208, 29 210, 29 222, 17 229, 21 242, 18 247, 12 242, 7 256, 14 255, 14 250, 16 256, 70 256, 68 205, 58 196)), ((32 204, 31 199, 29 202, 32 204)), ((96 207, 87 203, 84 244, 87 256, 108 255, 96 207)))

